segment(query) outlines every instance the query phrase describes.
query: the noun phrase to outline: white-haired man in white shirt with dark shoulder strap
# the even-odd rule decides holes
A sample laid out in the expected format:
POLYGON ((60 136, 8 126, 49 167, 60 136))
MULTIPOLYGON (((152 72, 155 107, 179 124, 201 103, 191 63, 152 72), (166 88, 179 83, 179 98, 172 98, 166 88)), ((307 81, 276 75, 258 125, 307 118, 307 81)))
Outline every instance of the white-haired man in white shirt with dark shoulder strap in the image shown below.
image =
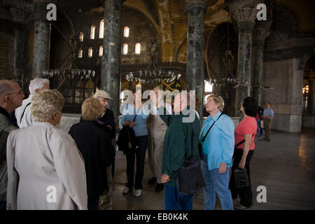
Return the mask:
POLYGON ((33 124, 33 116, 31 115, 31 98, 36 92, 49 89, 49 80, 46 78, 34 78, 29 83, 29 97, 24 99, 22 106, 15 109, 15 117, 18 122, 18 126, 29 127, 33 124))

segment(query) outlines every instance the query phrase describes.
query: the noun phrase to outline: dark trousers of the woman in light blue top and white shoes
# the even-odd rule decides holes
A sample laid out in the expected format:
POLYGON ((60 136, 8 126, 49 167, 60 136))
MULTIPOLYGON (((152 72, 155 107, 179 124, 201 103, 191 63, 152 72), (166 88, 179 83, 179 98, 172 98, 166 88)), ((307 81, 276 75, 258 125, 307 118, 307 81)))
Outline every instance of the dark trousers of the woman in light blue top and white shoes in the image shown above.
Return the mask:
POLYGON ((142 190, 142 179, 144 179, 144 161, 146 160, 146 147, 148 146, 148 135, 136 137, 138 148, 125 151, 127 160, 127 183, 128 188, 142 190), (137 173, 134 184, 134 162, 137 158, 137 173))

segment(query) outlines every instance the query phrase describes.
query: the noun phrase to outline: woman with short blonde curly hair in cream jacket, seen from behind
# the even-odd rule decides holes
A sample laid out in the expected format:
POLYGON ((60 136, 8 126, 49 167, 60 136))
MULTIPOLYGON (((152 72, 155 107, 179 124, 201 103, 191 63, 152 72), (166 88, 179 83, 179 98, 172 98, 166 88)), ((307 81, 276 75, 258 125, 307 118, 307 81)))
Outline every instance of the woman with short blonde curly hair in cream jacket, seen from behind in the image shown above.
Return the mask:
POLYGON ((31 99, 34 123, 10 132, 7 209, 87 209, 82 155, 60 122, 64 97, 57 90, 31 99))

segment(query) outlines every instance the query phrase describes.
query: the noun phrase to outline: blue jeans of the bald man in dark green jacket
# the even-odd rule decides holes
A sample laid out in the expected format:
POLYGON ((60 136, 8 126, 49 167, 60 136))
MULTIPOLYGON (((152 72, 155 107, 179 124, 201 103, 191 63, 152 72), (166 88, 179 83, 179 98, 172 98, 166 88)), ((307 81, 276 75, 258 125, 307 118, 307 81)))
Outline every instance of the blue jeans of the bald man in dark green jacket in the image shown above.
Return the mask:
POLYGON ((192 210, 193 194, 182 195, 177 187, 165 185, 165 210, 192 210))

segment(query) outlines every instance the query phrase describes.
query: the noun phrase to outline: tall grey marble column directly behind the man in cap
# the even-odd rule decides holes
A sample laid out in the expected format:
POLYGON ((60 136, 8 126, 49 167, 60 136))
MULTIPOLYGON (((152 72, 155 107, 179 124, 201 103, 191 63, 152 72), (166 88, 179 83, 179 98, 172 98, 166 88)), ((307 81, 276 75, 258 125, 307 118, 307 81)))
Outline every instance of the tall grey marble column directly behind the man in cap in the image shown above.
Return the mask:
MULTIPOLYGON (((104 54, 102 56, 101 88, 109 92, 113 98, 109 108, 113 110, 118 119, 123 0, 105 0, 104 3, 104 54)), ((116 124, 118 125, 118 120, 116 120, 116 124)))

